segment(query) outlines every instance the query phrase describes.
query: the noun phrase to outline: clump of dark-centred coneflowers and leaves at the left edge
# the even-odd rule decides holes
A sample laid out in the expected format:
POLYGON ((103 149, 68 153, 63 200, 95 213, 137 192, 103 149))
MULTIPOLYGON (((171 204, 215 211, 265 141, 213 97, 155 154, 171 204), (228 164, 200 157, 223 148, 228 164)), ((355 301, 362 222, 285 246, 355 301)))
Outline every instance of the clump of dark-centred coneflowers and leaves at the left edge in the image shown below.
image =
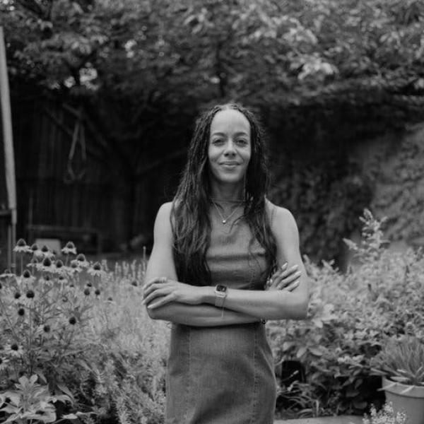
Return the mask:
POLYGON ((82 367, 88 367, 84 352, 90 340, 84 329, 96 301, 94 296, 100 295, 93 283, 98 283, 103 271, 100 264, 90 264, 82 254, 69 263, 71 254, 76 254, 71 242, 62 249, 65 263, 56 260, 47 247, 29 247, 22 239, 14 251, 20 259, 20 273, 6 271, 0 276, 0 389, 12 393, 11 387, 19 380, 13 399, 25 391, 22 396, 30 396, 31 400, 13 401, 13 406, 4 411, 11 413, 15 408, 14 413, 24 420, 28 413, 35 412, 37 403, 37 407, 47 408, 53 399, 67 399, 75 406, 71 391, 78 386, 69 387, 69 382, 82 367), (29 257, 24 270, 24 261, 29 257), (83 270, 88 273, 85 286, 81 285, 83 270), (37 376, 54 397, 49 397, 47 387, 35 384, 37 376), (20 381, 20 377, 25 379, 20 381))

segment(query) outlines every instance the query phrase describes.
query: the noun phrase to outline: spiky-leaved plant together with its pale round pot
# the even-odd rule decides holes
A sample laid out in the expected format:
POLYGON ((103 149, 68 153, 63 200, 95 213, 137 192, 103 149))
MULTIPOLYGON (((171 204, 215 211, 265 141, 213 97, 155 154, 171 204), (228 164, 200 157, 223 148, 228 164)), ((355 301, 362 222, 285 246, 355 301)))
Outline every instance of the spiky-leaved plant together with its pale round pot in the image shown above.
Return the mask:
POLYGON ((394 412, 404 411, 408 424, 424 424, 424 341, 416 336, 387 338, 371 360, 382 376, 382 389, 394 412))

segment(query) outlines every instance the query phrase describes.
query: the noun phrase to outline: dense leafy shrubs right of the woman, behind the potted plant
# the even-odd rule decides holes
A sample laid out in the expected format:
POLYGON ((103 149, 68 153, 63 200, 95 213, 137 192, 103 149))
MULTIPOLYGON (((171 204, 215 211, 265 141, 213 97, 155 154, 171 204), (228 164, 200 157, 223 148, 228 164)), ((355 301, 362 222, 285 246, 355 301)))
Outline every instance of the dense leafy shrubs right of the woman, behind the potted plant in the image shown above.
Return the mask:
POLYGON ((278 362, 298 359, 322 411, 363 413, 370 400, 371 361, 387 336, 424 338, 424 259, 420 251, 384 249, 380 223, 365 211, 360 264, 341 274, 305 258, 312 283, 309 319, 269 324, 278 362))

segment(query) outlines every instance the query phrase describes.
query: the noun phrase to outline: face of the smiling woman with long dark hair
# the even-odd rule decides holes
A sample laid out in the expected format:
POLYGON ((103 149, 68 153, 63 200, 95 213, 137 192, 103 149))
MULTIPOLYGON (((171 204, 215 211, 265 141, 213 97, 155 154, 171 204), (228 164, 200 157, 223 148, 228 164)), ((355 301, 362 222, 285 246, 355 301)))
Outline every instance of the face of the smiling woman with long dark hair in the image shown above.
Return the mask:
POLYGON ((220 183, 242 182, 252 146, 250 124, 238 110, 217 112, 211 122, 208 164, 211 179, 220 183))

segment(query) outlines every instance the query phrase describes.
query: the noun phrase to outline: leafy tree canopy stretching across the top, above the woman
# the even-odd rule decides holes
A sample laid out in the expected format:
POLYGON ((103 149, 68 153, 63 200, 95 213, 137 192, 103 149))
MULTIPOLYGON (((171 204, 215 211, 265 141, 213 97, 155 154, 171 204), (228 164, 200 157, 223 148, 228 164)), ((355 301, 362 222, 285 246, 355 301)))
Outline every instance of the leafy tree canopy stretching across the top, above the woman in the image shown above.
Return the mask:
POLYGON ((197 98, 266 98, 355 78, 423 88, 420 1, 7 0, 1 12, 11 73, 50 86, 113 81, 163 95, 171 85, 171 96, 197 98))

